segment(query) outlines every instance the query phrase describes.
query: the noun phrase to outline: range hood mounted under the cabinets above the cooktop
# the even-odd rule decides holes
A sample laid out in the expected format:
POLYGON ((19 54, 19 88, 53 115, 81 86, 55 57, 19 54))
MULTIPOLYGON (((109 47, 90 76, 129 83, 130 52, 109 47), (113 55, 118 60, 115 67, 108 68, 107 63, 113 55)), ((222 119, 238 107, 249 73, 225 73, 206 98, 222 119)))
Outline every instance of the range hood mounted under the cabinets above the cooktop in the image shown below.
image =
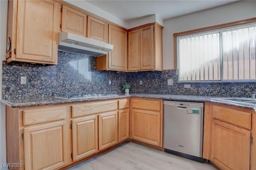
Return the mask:
POLYGON ((59 32, 58 49, 98 57, 106 55, 113 49, 113 45, 68 32, 59 32))

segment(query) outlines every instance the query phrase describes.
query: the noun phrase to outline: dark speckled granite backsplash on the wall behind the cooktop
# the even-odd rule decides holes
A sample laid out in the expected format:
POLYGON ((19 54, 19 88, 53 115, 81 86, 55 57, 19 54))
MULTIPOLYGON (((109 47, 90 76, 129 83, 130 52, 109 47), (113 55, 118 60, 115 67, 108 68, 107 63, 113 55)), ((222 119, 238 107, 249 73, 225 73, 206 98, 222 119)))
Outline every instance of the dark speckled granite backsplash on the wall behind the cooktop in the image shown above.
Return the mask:
POLYGON ((58 65, 3 62, 2 98, 49 96, 54 92, 121 93, 125 82, 125 73, 96 71, 96 57, 58 51, 58 65), (20 85, 20 76, 27 76, 26 85, 20 85))

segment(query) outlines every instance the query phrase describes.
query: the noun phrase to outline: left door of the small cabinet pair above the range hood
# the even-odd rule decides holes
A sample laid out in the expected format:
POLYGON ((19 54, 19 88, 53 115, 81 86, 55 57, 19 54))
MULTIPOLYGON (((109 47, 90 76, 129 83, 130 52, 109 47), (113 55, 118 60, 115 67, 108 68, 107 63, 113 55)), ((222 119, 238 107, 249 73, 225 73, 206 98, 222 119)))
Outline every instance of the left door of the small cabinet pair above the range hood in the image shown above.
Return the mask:
POLYGON ((87 15, 67 6, 62 6, 62 28, 63 32, 70 32, 86 37, 87 15))

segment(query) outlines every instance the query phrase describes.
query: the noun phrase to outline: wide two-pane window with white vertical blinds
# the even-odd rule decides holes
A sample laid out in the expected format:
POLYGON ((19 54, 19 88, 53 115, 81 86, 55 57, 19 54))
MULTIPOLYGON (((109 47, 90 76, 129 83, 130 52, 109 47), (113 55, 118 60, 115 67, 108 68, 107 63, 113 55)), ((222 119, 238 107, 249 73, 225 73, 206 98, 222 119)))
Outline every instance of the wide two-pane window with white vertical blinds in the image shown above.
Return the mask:
POLYGON ((177 37, 179 81, 256 80, 256 24, 177 37))

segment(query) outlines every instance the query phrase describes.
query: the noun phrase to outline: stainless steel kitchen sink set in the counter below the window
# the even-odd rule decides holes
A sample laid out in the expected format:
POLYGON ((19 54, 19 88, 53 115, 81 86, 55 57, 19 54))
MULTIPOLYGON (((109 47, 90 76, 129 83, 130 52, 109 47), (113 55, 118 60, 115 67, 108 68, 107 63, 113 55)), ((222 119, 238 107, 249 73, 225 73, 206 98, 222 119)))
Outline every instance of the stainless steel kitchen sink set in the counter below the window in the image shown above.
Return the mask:
POLYGON ((212 98, 211 100, 221 101, 226 103, 234 103, 239 105, 256 106, 256 99, 251 99, 246 97, 222 97, 222 98, 212 98))

